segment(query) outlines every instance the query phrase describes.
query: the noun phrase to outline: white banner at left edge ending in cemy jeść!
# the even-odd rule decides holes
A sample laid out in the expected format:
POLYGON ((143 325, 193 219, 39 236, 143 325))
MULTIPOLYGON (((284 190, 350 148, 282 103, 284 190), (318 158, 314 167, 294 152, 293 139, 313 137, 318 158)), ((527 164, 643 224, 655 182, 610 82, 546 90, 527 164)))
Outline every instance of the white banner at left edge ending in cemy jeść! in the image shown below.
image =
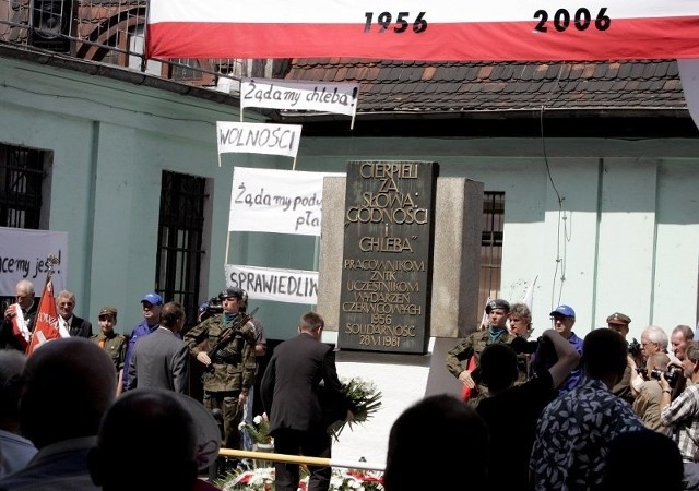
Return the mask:
POLYGON ((0 227, 0 296, 14 297, 14 287, 22 279, 32 282, 40 296, 49 255, 59 261, 52 280, 60 291, 68 278, 68 232, 0 227))

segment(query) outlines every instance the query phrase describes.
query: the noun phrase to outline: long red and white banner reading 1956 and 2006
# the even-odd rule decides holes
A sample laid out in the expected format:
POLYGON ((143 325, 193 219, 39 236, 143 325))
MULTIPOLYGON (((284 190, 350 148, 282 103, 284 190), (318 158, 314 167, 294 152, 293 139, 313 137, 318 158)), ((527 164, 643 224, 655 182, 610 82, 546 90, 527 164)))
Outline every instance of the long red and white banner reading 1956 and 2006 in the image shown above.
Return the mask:
POLYGON ((698 0, 151 0, 149 58, 699 58, 698 0))

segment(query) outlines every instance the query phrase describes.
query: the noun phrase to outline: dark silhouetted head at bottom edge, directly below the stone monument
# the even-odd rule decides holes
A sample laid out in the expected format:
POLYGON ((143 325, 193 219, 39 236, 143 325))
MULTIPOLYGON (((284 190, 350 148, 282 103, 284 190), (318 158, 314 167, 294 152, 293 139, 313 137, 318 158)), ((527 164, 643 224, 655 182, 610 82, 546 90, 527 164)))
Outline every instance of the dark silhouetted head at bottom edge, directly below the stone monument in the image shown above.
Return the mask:
POLYGON ((384 489, 464 489, 467 479, 470 491, 482 490, 487 443, 485 422, 466 403, 449 394, 425 397, 405 409, 391 427, 384 489))

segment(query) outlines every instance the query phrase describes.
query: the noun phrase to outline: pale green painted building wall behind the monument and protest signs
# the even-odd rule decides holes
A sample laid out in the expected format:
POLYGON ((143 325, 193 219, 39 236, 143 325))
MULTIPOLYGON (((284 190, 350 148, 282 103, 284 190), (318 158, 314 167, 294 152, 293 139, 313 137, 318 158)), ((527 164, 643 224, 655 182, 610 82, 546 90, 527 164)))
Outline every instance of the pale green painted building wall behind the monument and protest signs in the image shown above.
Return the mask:
MULTIPOLYGON (((233 167, 291 169, 286 157, 226 154, 218 166, 217 120, 235 106, 128 82, 0 58, 0 142, 54 151, 47 228, 69 232, 68 287, 76 312, 96 322, 119 308, 118 330, 140 321, 153 288, 163 170, 209 179, 202 300, 225 284, 227 262, 316 270, 316 239, 230 233, 233 167)), ((246 121, 262 121, 246 111, 246 121)), ((355 125, 360 125, 360 118, 355 125)), ((387 124, 390 124, 387 121, 387 124)), ((458 122, 455 122, 458 124, 458 122)), ((350 119, 347 119, 347 129, 350 119)), ((301 137, 296 169, 344 171, 348 160, 435 160, 441 176, 506 192, 501 296, 518 300, 537 276, 534 324, 552 306, 578 311, 576 330, 628 313, 647 324, 697 321, 699 131, 697 139, 301 137), (562 232, 561 232, 562 230, 562 232), (565 271, 564 271, 565 270, 565 271), (565 273, 565 274, 564 274, 565 273)), ((296 334, 313 306, 257 302, 268 337, 296 334)))

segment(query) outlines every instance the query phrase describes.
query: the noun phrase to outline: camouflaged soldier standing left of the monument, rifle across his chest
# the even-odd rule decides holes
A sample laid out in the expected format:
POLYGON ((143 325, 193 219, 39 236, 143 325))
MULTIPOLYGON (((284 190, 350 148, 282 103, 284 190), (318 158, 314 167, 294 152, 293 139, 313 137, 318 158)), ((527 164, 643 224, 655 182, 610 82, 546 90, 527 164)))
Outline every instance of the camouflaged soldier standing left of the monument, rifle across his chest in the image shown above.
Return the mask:
POLYGON ((201 343, 208 338, 209 349, 213 349, 226 330, 237 324, 244 292, 240 288, 227 288, 218 298, 223 304, 223 313, 212 315, 188 331, 185 343, 192 356, 208 367, 202 376, 203 403, 210 411, 221 410, 223 446, 240 448, 238 424, 242 419, 248 392, 254 383, 254 326, 247 322, 237 328, 228 343, 210 358, 201 343))

